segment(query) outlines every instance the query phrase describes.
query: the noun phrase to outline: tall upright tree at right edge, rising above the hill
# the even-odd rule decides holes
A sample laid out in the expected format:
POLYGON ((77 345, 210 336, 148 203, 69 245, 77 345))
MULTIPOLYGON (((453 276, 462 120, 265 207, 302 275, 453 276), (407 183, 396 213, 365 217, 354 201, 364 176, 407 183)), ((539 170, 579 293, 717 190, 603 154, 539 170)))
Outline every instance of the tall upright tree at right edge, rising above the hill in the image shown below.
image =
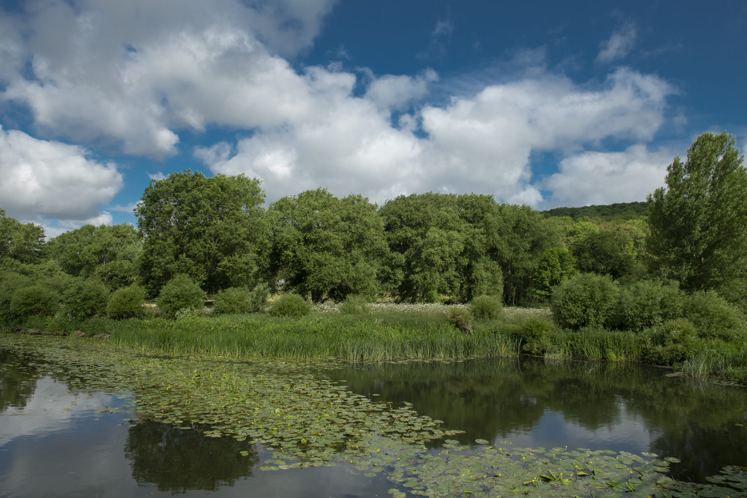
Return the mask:
POLYGON ((725 131, 702 134, 684 163, 675 156, 667 167, 666 188, 648 196, 648 250, 684 290, 719 290, 744 278, 747 171, 734 143, 725 131))

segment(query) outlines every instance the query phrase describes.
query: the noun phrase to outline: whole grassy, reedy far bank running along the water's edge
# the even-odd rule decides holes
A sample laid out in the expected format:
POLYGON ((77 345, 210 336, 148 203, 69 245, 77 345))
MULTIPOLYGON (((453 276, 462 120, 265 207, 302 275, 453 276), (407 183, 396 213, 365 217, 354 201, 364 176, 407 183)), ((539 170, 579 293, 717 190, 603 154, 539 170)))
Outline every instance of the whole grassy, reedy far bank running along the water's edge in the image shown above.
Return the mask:
MULTIPOLYGON (((61 320, 51 320, 25 324, 25 329, 63 335, 81 330, 87 337, 111 334, 111 342, 119 346, 179 354, 385 361, 506 358, 523 353, 547 359, 641 361, 674 365, 686 376, 716 376, 723 382, 747 384, 743 340, 698 340, 679 359, 672 360, 672 352, 677 353, 682 345, 668 345, 669 336, 657 328, 639 333, 598 328, 570 331, 552 326, 546 309, 505 308, 500 319, 475 322, 474 332, 465 336, 448 322, 441 308, 405 310, 406 306, 385 305, 370 314, 325 310, 297 319, 267 314, 184 320, 93 318, 64 323, 63 327, 61 320), (531 330, 527 332, 531 320, 542 320, 550 328, 542 337, 533 335, 531 330)), ((4 332, 10 329, 5 327, 4 332)))

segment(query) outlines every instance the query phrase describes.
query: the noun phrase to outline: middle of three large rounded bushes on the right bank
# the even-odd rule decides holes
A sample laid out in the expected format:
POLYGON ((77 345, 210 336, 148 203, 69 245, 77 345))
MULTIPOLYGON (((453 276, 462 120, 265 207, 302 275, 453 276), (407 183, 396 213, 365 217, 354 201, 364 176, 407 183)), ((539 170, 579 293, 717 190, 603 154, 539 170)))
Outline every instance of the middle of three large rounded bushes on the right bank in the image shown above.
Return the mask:
POLYGON ((637 281, 620 288, 617 326, 632 332, 661 325, 682 316, 682 293, 677 284, 637 281))

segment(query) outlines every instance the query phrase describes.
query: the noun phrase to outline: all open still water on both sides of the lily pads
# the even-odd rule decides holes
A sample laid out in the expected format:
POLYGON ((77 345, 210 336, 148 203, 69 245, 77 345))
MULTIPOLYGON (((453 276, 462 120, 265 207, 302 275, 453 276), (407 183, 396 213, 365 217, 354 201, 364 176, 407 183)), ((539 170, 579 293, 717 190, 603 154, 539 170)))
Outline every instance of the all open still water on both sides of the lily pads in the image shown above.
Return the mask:
MULTIPOLYGON (((69 390, 0 350, 0 497, 389 497, 400 488, 350 465, 265 472, 233 438, 131 423, 126 397, 69 390)), ((517 446, 654 452, 672 476, 704 482, 747 464, 747 390, 668 377, 645 365, 471 360, 350 364, 323 372, 376 401, 412 403, 461 429, 517 446)), ((433 441, 435 448, 440 441, 433 441)))

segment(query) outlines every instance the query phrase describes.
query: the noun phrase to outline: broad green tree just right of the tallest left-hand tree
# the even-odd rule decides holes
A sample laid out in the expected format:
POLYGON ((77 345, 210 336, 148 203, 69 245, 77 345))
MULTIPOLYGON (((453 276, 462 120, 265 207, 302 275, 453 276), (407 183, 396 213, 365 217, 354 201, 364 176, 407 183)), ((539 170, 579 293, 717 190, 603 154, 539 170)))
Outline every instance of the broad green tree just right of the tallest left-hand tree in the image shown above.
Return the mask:
POLYGON ((270 273, 314 302, 348 294, 375 295, 387 252, 376 205, 361 195, 326 189, 283 197, 268 211, 273 232, 270 273))

